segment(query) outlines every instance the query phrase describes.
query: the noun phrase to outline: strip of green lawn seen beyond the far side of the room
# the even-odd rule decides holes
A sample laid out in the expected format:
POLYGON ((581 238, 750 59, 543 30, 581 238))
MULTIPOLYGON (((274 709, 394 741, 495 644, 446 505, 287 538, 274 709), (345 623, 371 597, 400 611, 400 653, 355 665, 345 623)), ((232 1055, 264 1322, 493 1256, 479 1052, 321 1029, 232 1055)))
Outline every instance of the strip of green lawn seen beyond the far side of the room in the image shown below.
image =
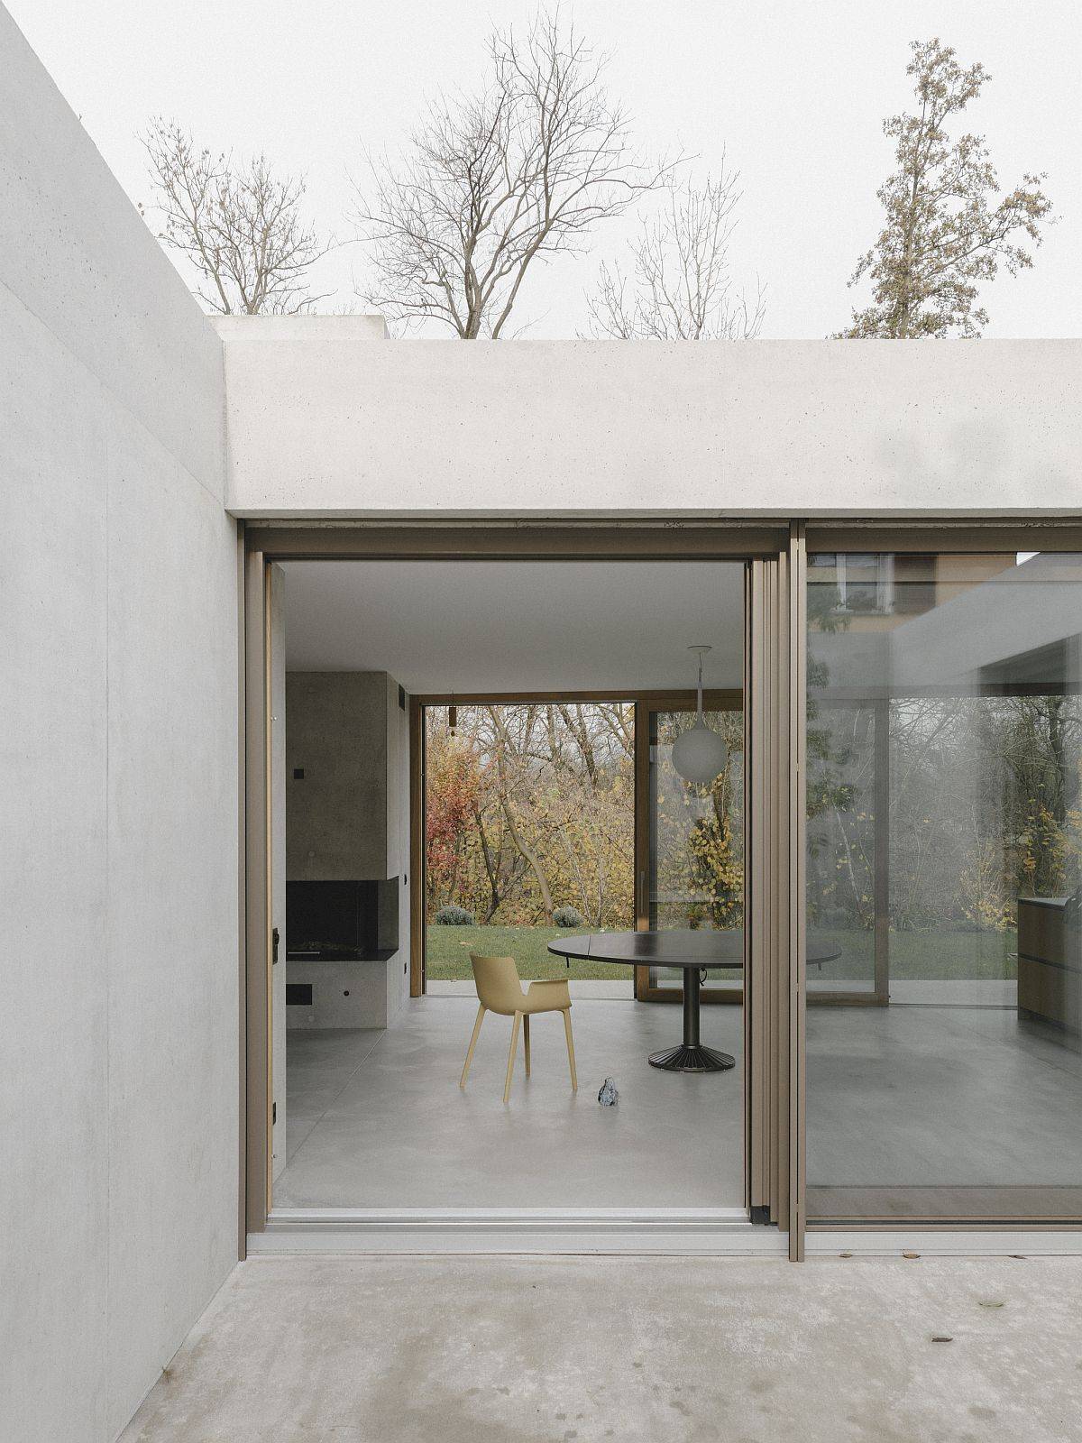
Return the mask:
MULTIPOLYGON (((630 967, 610 967, 606 962, 571 962, 567 965, 547 951, 548 942, 574 932, 589 932, 589 926, 570 932, 560 926, 430 926, 428 977, 431 981, 469 981, 470 952, 488 957, 514 957, 518 974, 532 981, 540 977, 600 978, 616 981, 629 978, 630 967)), ((827 962, 818 980, 871 980, 871 932, 817 932, 841 957, 827 962)), ((1017 934, 1010 932, 892 932, 890 975, 897 981, 951 981, 1014 978, 1017 967, 1011 952, 1017 948, 1017 934)))

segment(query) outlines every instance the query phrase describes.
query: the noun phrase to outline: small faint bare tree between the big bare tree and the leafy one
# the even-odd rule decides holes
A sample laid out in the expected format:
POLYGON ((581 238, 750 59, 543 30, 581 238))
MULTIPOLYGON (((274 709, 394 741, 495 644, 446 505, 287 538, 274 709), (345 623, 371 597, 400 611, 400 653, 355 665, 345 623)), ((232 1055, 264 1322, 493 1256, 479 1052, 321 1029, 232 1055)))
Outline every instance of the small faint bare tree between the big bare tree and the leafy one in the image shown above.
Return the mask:
POLYGON ((703 186, 669 176, 665 203, 643 219, 632 244, 630 274, 603 264, 589 300, 594 336, 619 341, 750 341, 763 323, 765 293, 737 290, 729 241, 742 192, 739 172, 707 176, 703 186))

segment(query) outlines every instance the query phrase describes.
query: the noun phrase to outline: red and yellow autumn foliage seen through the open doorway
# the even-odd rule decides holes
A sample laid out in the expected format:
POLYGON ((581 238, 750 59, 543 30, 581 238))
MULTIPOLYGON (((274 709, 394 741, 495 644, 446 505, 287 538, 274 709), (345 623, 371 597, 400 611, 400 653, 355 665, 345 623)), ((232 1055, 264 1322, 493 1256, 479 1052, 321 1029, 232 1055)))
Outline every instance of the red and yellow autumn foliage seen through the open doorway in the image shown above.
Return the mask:
MULTIPOLYGON (((635 709, 629 703, 457 707, 427 716, 427 915, 590 926, 635 916, 635 709)), ((675 740, 688 717, 662 719, 675 740)), ((726 765, 710 786, 656 776, 658 887, 668 925, 739 926, 743 915, 743 716, 711 713, 726 765), (669 911, 665 911, 668 908, 669 911)))

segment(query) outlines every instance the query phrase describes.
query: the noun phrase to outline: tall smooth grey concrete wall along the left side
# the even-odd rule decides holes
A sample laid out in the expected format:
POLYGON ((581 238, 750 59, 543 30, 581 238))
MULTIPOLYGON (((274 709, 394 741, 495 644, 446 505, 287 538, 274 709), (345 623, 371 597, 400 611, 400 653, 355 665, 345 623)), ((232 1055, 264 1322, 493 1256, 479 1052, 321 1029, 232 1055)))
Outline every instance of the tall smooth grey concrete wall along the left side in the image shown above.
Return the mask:
POLYGON ((0 9, 0 1437, 115 1437, 238 1228, 221 342, 0 9))

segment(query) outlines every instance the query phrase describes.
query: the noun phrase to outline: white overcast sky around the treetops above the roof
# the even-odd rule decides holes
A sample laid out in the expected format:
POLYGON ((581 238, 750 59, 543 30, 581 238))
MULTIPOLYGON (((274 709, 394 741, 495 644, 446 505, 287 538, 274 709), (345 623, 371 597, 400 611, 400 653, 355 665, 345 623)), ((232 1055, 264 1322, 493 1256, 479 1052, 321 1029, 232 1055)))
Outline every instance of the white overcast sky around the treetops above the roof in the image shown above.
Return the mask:
MULTIPOLYGON (((482 74, 514 0, 4 0, 133 199, 149 199, 137 133, 162 113, 212 149, 265 150, 307 173, 312 215, 348 238, 364 150, 401 144, 427 95, 482 74)), ((767 287, 765 336, 844 325, 854 261, 879 229, 892 169, 884 115, 910 100, 907 43, 939 35, 991 72, 967 113, 1006 186, 1047 170, 1059 222, 1034 268, 985 290, 988 336, 1082 335, 1082 4, 1079 0, 576 0, 576 26, 612 53, 610 91, 652 152, 700 172, 723 149, 742 172, 737 278, 767 287)), ((586 329, 584 291, 626 244, 600 228, 524 289, 531 336, 586 329)), ((325 309, 355 306, 358 247, 320 266, 325 309)), ((856 299, 864 299, 860 293, 856 299)))

